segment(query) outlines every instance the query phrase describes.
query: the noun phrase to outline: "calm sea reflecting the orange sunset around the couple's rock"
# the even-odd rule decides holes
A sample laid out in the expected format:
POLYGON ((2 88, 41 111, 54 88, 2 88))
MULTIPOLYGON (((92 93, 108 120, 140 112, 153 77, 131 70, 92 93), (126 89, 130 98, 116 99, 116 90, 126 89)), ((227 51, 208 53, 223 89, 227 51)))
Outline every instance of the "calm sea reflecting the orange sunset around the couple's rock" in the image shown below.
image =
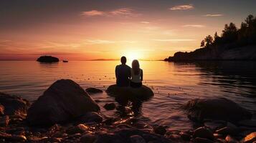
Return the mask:
MULTIPOLYGON (((0 92, 16 94, 30 101, 39 97, 57 79, 72 79, 81 87, 107 89, 115 84, 115 65, 119 61, 70 61, 40 64, 37 61, 0 61, 0 92)), ((130 65, 130 63, 129 63, 130 65)), ((139 118, 149 124, 165 124, 170 129, 192 126, 180 109, 189 99, 227 97, 256 113, 256 62, 222 61, 173 63, 141 61, 143 84, 151 87, 155 96, 144 102, 139 118)), ((114 102, 107 94, 95 94, 103 105, 114 102)), ((255 118, 255 116, 254 116, 255 118)))

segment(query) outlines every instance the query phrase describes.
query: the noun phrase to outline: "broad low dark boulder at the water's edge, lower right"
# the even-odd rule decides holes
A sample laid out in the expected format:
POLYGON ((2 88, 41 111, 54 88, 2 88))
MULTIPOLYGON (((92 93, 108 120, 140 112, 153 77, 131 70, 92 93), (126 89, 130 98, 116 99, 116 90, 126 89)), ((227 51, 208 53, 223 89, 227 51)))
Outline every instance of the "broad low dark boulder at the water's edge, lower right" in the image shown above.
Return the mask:
POLYGON ((229 122, 238 122, 251 119, 252 113, 226 98, 192 99, 184 104, 188 117, 194 121, 217 119, 229 122))

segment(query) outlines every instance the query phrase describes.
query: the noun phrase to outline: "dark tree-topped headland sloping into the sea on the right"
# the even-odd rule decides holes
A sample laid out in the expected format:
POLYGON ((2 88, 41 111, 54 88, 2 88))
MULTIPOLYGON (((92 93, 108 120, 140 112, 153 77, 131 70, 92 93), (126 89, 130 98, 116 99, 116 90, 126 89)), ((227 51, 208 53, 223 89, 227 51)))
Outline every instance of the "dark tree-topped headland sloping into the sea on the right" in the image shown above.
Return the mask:
POLYGON ((249 15, 240 29, 234 23, 225 24, 222 35, 215 32, 201 42, 200 49, 176 52, 164 61, 256 60, 256 17, 249 15))

